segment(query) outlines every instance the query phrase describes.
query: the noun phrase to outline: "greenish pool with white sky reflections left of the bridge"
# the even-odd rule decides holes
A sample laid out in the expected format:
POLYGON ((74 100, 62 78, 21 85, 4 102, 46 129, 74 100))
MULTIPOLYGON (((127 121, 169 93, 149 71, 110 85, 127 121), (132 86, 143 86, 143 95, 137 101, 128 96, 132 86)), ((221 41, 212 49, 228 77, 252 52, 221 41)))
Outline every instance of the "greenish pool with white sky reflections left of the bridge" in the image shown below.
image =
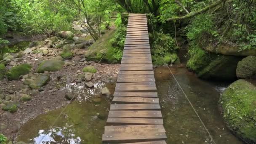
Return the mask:
POLYGON ((66 85, 66 91, 74 90, 78 94, 77 100, 67 105, 60 117, 63 108, 29 120, 21 128, 17 141, 32 144, 100 144, 110 104, 103 96, 99 97, 104 86, 113 93, 114 85, 110 84, 96 83, 93 89, 74 83, 66 85), (95 97, 97 101, 93 101, 95 97))

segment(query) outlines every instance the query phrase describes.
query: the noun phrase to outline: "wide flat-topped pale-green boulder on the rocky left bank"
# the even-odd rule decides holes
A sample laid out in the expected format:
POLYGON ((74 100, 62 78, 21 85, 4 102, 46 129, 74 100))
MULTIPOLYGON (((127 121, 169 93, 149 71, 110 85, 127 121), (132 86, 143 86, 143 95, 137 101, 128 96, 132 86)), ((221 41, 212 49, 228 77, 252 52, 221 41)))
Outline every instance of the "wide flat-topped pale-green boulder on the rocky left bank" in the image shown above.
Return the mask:
POLYGON ((38 73, 43 73, 45 71, 48 72, 56 72, 59 71, 64 65, 64 61, 58 60, 48 60, 43 61, 37 68, 38 73))

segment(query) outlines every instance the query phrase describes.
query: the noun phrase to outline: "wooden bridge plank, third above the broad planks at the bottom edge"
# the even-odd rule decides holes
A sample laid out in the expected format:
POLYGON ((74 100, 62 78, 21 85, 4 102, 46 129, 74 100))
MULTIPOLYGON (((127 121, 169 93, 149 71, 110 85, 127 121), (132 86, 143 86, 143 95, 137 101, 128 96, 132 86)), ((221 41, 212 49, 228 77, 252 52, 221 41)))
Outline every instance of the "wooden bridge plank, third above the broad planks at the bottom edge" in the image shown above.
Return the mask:
POLYGON ((149 110, 161 109, 159 104, 111 104, 110 110, 149 110))

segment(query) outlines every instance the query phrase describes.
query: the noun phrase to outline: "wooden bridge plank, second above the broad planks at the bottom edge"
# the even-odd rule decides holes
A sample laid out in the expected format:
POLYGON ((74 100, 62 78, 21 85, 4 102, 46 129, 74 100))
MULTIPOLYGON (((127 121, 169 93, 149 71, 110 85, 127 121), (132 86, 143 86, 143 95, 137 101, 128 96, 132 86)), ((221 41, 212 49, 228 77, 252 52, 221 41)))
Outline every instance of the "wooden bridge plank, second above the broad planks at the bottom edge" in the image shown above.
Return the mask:
POLYGON ((160 110, 110 110, 109 117, 154 117, 162 118, 160 110))

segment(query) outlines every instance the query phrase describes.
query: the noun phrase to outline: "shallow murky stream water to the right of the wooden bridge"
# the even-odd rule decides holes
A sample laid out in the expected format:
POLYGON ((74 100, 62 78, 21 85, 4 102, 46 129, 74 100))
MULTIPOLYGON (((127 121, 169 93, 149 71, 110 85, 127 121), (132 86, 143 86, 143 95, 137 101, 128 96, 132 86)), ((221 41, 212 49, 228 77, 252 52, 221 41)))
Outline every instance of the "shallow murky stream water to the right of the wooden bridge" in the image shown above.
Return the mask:
MULTIPOLYGON (((213 136, 216 144, 243 144, 225 126, 219 113, 219 96, 227 83, 209 83, 185 68, 171 68, 184 92, 213 136)), ((155 69, 158 96, 162 107, 168 144, 212 144, 168 68, 155 69)))

